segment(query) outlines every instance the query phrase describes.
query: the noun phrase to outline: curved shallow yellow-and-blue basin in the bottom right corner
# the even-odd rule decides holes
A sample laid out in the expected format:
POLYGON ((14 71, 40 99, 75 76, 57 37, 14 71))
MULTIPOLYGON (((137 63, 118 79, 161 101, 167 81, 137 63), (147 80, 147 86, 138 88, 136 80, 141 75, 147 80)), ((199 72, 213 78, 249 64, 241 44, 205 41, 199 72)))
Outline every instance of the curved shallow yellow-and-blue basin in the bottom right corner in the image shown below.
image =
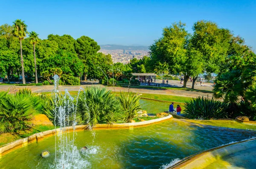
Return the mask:
POLYGON ((192 155, 169 169, 246 168, 256 165, 256 139, 231 143, 192 155))

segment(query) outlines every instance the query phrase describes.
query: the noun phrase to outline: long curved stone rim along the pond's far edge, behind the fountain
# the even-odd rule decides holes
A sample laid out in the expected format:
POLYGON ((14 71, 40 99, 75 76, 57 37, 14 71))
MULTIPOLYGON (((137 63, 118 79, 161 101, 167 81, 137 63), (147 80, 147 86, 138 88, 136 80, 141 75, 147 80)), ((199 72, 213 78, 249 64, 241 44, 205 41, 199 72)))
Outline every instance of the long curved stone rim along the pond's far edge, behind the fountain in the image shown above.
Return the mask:
MULTIPOLYGON (((96 124, 96 126, 93 128, 93 130, 102 130, 102 129, 133 129, 135 127, 142 127, 142 126, 148 126, 153 123, 160 123, 166 120, 169 120, 172 118, 172 115, 168 115, 166 117, 161 117, 153 120, 147 120, 137 123, 115 123, 115 124, 96 124)), ((80 125, 76 126, 75 131, 83 131, 86 125, 80 125)), ((66 127, 66 130, 68 132, 73 132, 73 127, 66 127)), ((61 129, 53 129, 53 130, 47 130, 44 132, 36 133, 34 135, 31 135, 29 137, 13 141, 11 143, 6 144, 5 146, 0 148, 0 158, 3 155, 6 155, 9 152, 12 152, 15 149, 19 149, 21 147, 25 147, 33 142, 38 142, 41 140, 44 140, 44 138, 54 136, 61 132, 61 129)))

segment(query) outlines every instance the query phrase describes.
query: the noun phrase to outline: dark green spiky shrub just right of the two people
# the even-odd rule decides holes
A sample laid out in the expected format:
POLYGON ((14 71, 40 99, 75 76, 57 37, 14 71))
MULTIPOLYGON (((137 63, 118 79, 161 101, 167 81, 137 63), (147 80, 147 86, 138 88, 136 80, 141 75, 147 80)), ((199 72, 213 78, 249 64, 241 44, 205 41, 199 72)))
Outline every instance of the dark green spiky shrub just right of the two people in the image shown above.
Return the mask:
POLYGON ((219 100, 197 97, 185 103, 186 117, 191 119, 227 118, 227 103, 219 100))

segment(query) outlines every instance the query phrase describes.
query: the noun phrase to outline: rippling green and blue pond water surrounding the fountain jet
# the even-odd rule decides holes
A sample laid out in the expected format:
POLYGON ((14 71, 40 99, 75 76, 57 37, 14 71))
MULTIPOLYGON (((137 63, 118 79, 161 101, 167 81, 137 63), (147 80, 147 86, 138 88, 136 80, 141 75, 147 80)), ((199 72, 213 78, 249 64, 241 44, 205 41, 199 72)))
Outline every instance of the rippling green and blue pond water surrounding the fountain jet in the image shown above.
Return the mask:
MULTIPOLYGON (((82 168, 92 169, 159 169, 203 150, 254 136, 250 130, 194 125, 175 119, 134 129, 76 132, 74 145, 88 149, 74 163, 82 160, 82 168)), ((54 159, 55 137, 48 137, 4 155, 0 168, 56 168, 54 159), (40 157, 44 150, 51 152, 49 158, 40 157)))

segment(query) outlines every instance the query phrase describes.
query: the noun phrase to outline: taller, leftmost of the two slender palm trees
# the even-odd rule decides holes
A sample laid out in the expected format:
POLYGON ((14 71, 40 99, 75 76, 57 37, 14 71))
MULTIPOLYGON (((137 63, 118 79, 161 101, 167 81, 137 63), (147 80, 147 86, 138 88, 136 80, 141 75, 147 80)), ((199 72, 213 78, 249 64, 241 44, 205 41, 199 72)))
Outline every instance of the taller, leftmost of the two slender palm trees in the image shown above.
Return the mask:
POLYGON ((24 21, 21 21, 19 19, 15 20, 13 22, 13 35, 20 40, 20 62, 21 62, 21 69, 22 69, 22 81, 23 84, 26 84, 25 82, 25 74, 24 74, 24 65, 23 65, 23 56, 22 56, 22 43, 21 41, 26 37, 27 32, 27 25, 24 23, 24 21))

